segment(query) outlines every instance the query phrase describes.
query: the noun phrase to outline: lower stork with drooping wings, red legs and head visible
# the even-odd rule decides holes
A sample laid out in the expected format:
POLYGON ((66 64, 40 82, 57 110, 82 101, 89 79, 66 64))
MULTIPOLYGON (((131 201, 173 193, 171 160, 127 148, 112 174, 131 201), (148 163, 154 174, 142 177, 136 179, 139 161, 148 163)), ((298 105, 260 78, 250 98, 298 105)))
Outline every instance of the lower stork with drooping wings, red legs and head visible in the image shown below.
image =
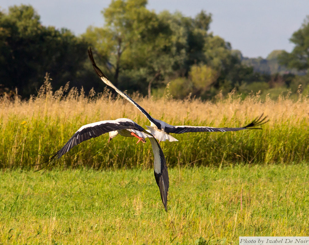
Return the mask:
MULTIPOLYGON (((137 137, 139 141, 145 141, 145 138, 149 138, 152 151, 154 153, 154 173, 155 180, 159 186, 161 199, 164 205, 165 211, 167 211, 167 193, 169 187, 169 179, 167 172, 167 165, 162 149, 158 141, 140 125, 133 122, 128 118, 119 118, 116 120, 105 120, 96 123, 86 124, 68 140, 68 142, 49 159, 56 157, 59 159, 66 152, 70 151, 74 146, 82 143, 85 140, 98 137, 105 133, 109 133, 108 142, 120 134, 125 137, 137 137)), ((138 141, 138 142, 139 142, 138 141)))

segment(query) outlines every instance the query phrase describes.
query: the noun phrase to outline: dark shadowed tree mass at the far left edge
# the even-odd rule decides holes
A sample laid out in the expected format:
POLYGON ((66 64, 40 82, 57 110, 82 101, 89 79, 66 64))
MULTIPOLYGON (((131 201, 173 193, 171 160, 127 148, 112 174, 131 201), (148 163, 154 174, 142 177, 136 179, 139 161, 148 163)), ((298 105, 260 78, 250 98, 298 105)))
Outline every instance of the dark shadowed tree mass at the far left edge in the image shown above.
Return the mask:
POLYGON ((22 96, 29 96, 46 72, 54 87, 67 81, 82 85, 88 44, 67 29, 42 26, 32 6, 12 6, 7 14, 1 13, 0 40, 2 86, 17 87, 22 96))

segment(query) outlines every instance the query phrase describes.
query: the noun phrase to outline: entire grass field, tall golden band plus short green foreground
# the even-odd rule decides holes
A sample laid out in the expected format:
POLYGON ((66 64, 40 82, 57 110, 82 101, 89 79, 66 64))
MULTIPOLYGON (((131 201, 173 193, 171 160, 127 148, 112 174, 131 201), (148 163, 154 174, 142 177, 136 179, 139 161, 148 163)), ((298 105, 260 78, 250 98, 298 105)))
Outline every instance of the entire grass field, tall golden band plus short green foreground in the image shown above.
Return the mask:
POLYGON ((149 142, 108 135, 35 172, 84 124, 147 119, 106 90, 52 92, 48 77, 28 101, 0 100, 0 244, 238 244, 238 237, 309 233, 309 98, 214 102, 133 95, 173 125, 239 127, 262 113, 263 130, 173 135, 160 143, 170 189, 163 209, 149 142))

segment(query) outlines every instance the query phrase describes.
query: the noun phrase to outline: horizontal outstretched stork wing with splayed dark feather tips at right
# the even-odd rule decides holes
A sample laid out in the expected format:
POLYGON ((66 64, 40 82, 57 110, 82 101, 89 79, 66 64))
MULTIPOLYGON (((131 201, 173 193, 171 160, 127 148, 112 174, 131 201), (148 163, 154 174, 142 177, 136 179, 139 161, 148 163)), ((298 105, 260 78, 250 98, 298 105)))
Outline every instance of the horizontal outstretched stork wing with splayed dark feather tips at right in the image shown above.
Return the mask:
POLYGON ((168 126, 165 127, 165 132, 167 133, 175 133, 175 134, 183 134, 183 133, 188 133, 188 132, 227 132, 227 131, 240 131, 244 129, 262 129, 262 128, 257 128, 264 123, 267 123, 269 120, 265 119, 267 116, 263 118, 263 114, 260 115, 260 117, 255 118, 251 123, 244 127, 239 127, 239 128, 214 128, 214 127, 203 127, 203 126, 168 126))

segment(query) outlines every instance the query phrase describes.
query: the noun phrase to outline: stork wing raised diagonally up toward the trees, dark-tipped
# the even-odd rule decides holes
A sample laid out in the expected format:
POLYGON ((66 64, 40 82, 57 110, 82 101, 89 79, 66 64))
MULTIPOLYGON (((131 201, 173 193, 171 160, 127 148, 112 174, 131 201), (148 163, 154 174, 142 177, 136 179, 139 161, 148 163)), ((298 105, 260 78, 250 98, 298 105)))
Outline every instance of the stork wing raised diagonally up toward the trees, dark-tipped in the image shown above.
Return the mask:
POLYGON ((154 123, 160 129, 161 125, 160 125, 159 122, 157 122, 152 116, 150 116, 148 114, 148 112, 142 106, 138 105, 138 103, 136 103, 133 99, 131 99, 126 93, 124 93, 121 90, 119 90, 115 85, 112 84, 111 81, 108 80, 108 77, 105 76, 105 74, 95 64, 95 60, 93 59, 91 48, 88 49, 88 55, 89 55, 89 59, 91 60, 93 69, 95 70, 95 73, 101 78, 101 80, 106 85, 108 85, 108 86, 112 87, 113 89, 115 89, 117 93, 119 93, 123 98, 125 98, 127 101, 129 101, 131 104, 133 104, 138 110, 140 110, 142 112, 142 114, 144 114, 146 116, 146 118, 148 118, 148 120, 150 122, 154 123))

